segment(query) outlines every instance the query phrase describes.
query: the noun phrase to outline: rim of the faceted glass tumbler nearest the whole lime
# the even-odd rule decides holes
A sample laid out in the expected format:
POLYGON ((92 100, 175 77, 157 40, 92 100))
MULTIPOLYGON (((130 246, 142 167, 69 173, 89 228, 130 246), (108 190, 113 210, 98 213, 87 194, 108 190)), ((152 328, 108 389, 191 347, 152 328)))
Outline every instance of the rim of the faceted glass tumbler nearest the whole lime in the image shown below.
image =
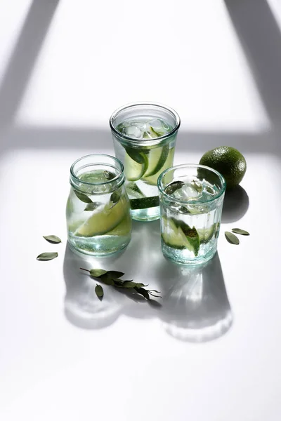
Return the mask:
POLYGON ((167 168, 165 171, 163 171, 163 173, 161 173, 159 175, 158 180, 157 180, 157 187, 159 189, 159 192, 161 192, 164 196, 168 197, 170 200, 172 199, 173 201, 175 201, 177 203, 181 203, 183 205, 186 205, 187 203, 191 204, 191 205, 198 204, 197 200, 183 201, 181 199, 176 199, 173 196, 170 196, 169 194, 164 192, 164 189, 162 188, 162 185, 161 185, 161 182, 162 182, 162 179, 164 178, 164 175, 166 175, 166 173, 169 173, 169 171, 176 170, 178 168, 204 168, 205 170, 209 170, 212 173, 218 175, 218 178, 221 180, 221 183, 222 183, 221 190, 218 192, 218 194, 216 196, 211 197, 211 199, 204 200, 204 202, 202 202, 202 203, 209 203, 209 202, 215 201, 215 200, 219 199, 226 192, 226 179, 223 177, 223 175, 221 175, 221 173, 218 173, 218 171, 214 170, 214 168, 211 168, 211 167, 206 166, 206 165, 201 165, 200 163, 182 163, 180 165, 176 165, 176 166, 172 166, 170 168, 167 168))

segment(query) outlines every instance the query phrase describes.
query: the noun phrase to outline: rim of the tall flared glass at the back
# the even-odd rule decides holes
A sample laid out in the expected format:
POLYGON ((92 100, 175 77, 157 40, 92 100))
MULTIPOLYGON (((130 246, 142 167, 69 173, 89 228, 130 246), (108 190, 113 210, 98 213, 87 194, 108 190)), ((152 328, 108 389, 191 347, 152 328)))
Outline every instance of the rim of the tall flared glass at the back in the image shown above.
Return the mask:
POLYGON ((114 119, 117 117, 117 115, 119 114, 119 112, 123 111, 124 109, 127 108, 131 108, 131 107, 136 107, 138 105, 152 105, 155 107, 159 107, 162 108, 166 111, 171 112, 171 114, 174 114, 175 118, 176 118, 176 126, 169 131, 168 133, 166 133, 165 135, 159 136, 159 138, 155 138, 155 139, 145 139, 145 144, 146 145, 156 145, 157 143, 162 142, 162 140, 169 138, 171 135, 173 135, 174 133, 176 133, 176 131, 178 131, 178 128, 181 126, 181 119, 180 116, 178 115, 178 113, 171 107, 168 107, 166 105, 160 104, 159 102, 149 102, 149 101, 144 101, 144 102, 131 102, 129 104, 123 105, 122 107, 119 107, 117 109, 115 109, 115 111, 112 113, 112 115, 110 116, 110 128, 111 130, 117 134, 119 136, 119 138, 124 138, 126 140, 133 140, 133 142, 139 143, 141 144, 143 142, 143 139, 136 139, 136 138, 131 138, 128 135, 124 135, 124 133, 121 133, 117 130, 117 128, 115 128, 113 121, 114 119))

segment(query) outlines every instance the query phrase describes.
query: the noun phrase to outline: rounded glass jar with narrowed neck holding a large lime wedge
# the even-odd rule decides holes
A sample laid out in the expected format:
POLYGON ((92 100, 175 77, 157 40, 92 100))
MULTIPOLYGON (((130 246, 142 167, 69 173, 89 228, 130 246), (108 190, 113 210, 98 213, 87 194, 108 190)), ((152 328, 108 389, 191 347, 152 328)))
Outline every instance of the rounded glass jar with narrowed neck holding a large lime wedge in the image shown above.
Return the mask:
POLYGON ((66 219, 70 248, 81 253, 109 255, 128 245, 131 215, 122 162, 93 154, 72 164, 66 219))

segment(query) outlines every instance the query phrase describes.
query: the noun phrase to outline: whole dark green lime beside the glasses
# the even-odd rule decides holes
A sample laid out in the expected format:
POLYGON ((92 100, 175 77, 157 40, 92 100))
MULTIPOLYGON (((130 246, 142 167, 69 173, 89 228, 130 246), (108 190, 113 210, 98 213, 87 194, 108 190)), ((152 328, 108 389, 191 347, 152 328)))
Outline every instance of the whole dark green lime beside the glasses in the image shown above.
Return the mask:
POLYGON ((228 189, 240 184, 247 169, 244 156, 231 146, 219 146, 211 149, 202 156, 200 164, 214 168, 221 173, 226 179, 228 189))

